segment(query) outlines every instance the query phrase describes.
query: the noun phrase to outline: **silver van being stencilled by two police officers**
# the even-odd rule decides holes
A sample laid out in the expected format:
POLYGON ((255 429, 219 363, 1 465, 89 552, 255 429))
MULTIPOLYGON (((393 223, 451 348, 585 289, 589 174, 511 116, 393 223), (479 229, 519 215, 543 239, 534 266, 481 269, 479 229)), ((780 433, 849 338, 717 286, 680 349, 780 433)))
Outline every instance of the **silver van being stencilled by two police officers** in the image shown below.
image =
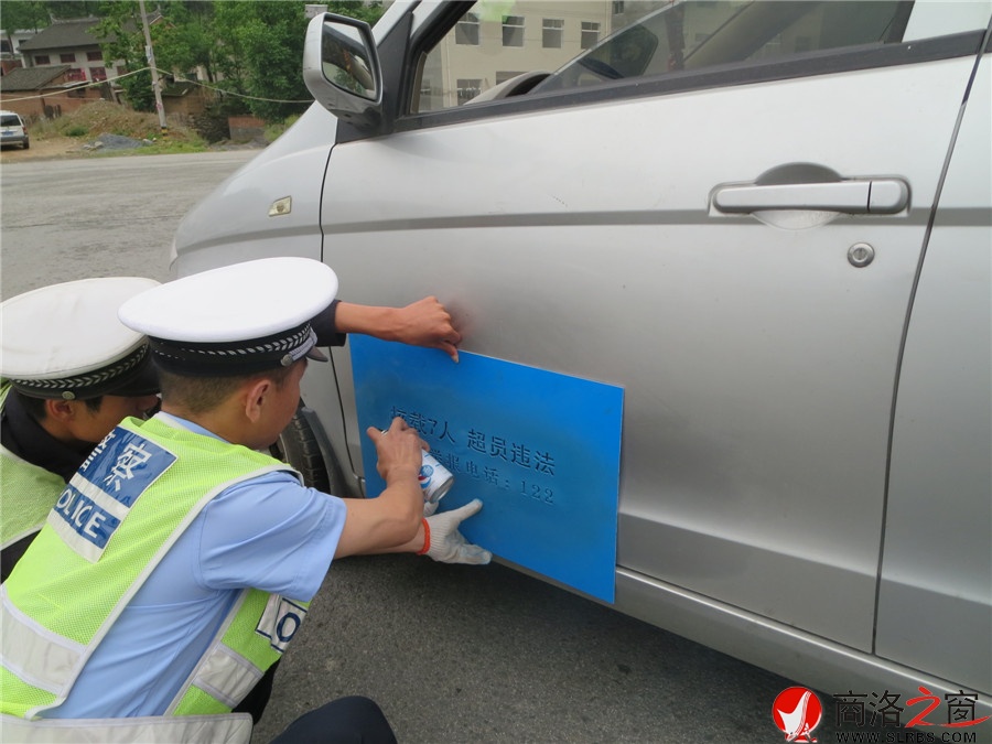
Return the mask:
MULTIPOLYGON (((319 17, 316 103, 185 217, 174 270, 320 259, 346 300, 436 294, 470 353, 622 387, 617 611, 830 693, 986 707, 990 19, 319 17)), ((311 368, 282 445, 360 495, 351 371, 311 368)))

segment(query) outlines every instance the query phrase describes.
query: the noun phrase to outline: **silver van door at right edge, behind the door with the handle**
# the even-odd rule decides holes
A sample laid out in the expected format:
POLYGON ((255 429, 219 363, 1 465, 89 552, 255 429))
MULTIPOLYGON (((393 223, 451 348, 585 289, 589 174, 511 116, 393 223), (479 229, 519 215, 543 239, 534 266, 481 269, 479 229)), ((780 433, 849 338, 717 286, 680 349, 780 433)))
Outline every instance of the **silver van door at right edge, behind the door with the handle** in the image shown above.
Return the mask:
POLYGON ((985 54, 909 316, 876 645, 880 656, 930 669, 983 696, 992 693, 990 131, 992 55, 985 54))

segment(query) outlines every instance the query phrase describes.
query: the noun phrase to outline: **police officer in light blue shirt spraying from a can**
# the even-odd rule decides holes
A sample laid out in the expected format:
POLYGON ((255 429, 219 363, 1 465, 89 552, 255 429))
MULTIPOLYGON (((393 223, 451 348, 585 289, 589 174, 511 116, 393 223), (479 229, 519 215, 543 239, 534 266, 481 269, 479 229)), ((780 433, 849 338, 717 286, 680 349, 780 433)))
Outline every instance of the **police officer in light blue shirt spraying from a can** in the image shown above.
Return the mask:
POLYGON ((157 741, 247 741, 250 719, 228 712, 280 658, 332 560, 489 561, 459 532, 478 500, 423 516, 424 444, 401 419, 367 432, 377 498, 306 488, 259 452, 295 412, 308 359, 326 358, 310 321, 336 288, 321 262, 265 259, 125 303, 121 320, 149 336, 162 410, 97 446, 0 587, 0 709, 21 719, 4 727, 51 737, 69 719, 101 741, 133 725, 157 741))

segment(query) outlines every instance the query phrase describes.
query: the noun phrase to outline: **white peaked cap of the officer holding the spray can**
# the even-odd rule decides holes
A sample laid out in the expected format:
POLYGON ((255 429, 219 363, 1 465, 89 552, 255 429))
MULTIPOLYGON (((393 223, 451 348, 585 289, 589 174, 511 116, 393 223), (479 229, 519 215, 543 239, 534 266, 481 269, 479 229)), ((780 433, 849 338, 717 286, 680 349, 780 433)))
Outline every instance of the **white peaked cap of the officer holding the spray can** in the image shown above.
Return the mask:
POLYGON ((289 366, 313 348, 310 321, 337 293, 330 267, 309 258, 265 258, 191 274, 120 308, 148 335, 159 366, 192 376, 241 375, 289 366))

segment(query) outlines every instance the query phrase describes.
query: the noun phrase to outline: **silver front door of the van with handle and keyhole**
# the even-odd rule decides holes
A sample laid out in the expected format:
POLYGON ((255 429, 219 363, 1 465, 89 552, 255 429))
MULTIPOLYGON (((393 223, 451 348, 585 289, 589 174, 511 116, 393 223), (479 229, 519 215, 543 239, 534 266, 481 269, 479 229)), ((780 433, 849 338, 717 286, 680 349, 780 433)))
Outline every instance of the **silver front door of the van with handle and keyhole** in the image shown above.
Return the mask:
POLYGON ((418 10, 395 131, 332 151, 342 296, 436 294, 466 351, 625 388, 621 610, 678 587, 871 650, 903 327, 988 13, 456 4, 418 10), (473 104, 546 47, 578 62, 473 104))

